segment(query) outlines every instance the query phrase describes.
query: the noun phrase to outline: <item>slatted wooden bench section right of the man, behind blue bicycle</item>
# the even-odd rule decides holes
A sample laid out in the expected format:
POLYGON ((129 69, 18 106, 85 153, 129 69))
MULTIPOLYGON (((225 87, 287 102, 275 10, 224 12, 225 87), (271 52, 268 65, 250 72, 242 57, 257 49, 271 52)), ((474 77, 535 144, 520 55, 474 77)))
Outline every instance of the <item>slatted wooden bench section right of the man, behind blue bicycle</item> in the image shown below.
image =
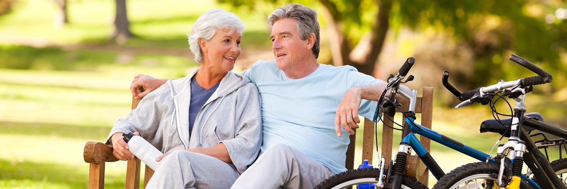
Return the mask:
MULTIPOLYGON (((402 104, 401 109, 403 111, 408 111, 409 104, 402 104)), ((398 110, 396 110, 399 112, 398 110)), ((417 98, 416 102, 416 113, 421 113, 421 125, 427 128, 431 128, 431 120, 433 119, 433 87, 423 87, 422 97, 417 98)), ((391 117, 393 120, 393 117, 391 117)), ((388 125, 393 125, 390 119, 384 117, 384 122, 388 125)), ((374 157, 374 122, 369 119, 364 119, 363 135, 362 135, 362 159, 359 161, 354 159, 354 149, 356 144, 356 134, 350 135, 350 144, 348 150, 346 150, 346 169, 354 169, 355 166, 363 163, 363 159, 368 159, 369 163, 372 163, 374 157)), ((356 129, 353 129, 356 133, 356 129)), ((393 141, 393 129, 382 125, 382 152, 380 156, 384 156, 386 163, 390 162, 392 158, 392 141, 393 141)), ((399 143, 399 139, 396 140, 396 144, 399 143)), ((425 146, 425 149, 430 150, 431 142, 429 138, 421 137, 421 143, 425 146)), ((397 148, 396 148, 397 149, 397 148)), ((375 162, 378 165, 378 162, 375 162)), ((386 166, 387 167, 387 164, 386 166)), ((419 182, 428 186, 429 170, 426 169, 421 159, 417 156, 408 157, 408 162, 406 166, 405 173, 410 177, 416 178, 419 182)))

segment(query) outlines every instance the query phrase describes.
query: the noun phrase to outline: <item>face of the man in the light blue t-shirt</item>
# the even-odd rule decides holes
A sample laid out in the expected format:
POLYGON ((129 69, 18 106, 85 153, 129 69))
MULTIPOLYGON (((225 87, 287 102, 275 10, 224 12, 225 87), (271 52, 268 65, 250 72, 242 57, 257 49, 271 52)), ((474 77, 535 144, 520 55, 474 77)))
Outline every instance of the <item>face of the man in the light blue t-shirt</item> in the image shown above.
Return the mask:
POLYGON ((272 26, 272 51, 276 56, 278 69, 283 71, 293 69, 312 54, 309 41, 301 40, 296 26, 293 18, 280 19, 272 26))

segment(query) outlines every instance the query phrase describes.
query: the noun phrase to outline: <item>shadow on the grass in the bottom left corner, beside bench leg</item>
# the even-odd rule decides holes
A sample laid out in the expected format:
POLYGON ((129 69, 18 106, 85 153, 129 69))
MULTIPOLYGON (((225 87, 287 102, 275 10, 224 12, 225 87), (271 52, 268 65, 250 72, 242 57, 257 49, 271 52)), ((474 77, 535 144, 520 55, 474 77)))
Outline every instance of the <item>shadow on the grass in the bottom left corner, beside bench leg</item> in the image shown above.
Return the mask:
MULTIPOLYGON (((0 167, 0 187, 88 188, 88 174, 76 167, 5 159, 0 159, 0 167)), ((105 179, 105 188, 124 188, 124 179, 105 179)))

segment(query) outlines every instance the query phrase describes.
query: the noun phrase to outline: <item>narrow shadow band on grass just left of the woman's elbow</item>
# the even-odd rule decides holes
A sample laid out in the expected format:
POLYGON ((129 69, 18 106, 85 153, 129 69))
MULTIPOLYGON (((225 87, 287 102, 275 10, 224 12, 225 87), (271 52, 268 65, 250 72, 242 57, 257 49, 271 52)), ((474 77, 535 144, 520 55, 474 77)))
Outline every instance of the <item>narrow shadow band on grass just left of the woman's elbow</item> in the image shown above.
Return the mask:
POLYGON ((0 121, 0 133, 9 135, 50 136, 103 141, 110 127, 82 127, 53 123, 19 123, 0 121))

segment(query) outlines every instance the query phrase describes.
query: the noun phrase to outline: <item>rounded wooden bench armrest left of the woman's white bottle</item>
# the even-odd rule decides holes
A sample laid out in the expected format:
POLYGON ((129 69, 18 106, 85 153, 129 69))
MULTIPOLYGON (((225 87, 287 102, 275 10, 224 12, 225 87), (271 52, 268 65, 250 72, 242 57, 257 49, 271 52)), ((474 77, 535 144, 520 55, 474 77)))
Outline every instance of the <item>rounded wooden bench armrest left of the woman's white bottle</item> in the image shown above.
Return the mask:
POLYGON ((118 161, 112 154, 111 145, 105 145, 102 142, 88 141, 84 144, 83 158, 87 163, 115 162, 118 161))

